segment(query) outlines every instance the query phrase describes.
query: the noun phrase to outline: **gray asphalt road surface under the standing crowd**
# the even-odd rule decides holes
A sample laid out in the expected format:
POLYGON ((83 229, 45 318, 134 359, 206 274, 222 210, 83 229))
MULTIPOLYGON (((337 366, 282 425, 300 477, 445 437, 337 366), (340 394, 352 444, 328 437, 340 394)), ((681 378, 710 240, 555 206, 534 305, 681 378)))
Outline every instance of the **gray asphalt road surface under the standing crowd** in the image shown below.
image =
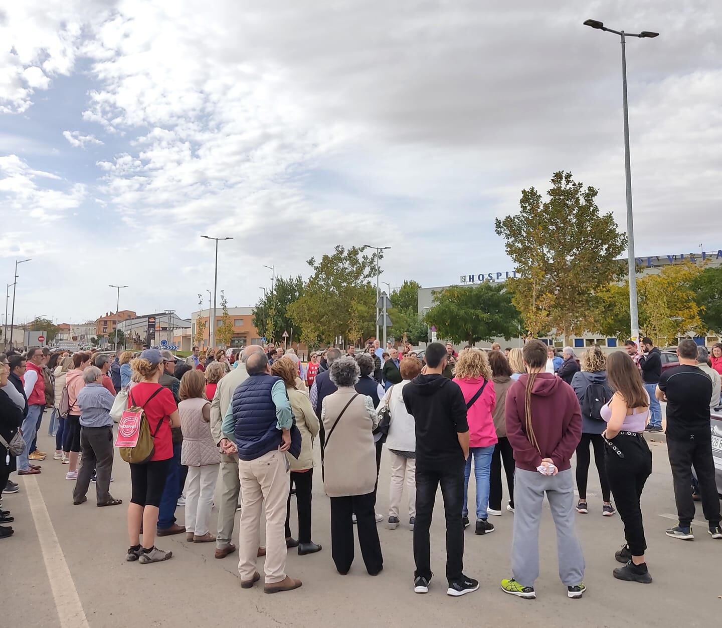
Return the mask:
MULTIPOLYGON (((53 451, 45 433, 38 446, 53 451)), ((300 557, 289 552, 287 572, 303 580, 290 593, 264 594, 256 585, 242 590, 237 556, 215 560, 214 544, 188 544, 185 535, 158 540, 172 549, 173 559, 154 565, 126 562, 126 505, 95 506, 95 487, 83 505, 72 503, 73 482, 67 467, 47 459, 43 473, 21 477, 20 492, 4 497, 12 510, 15 534, 0 541, 3 603, 0 627, 155 627, 242 625, 258 628, 404 627, 404 626, 623 626, 716 625, 722 613, 722 541, 706 534, 701 508, 695 541, 669 539, 674 523, 669 461, 664 443, 651 444, 654 471, 643 495, 651 585, 622 583, 612 578, 614 552, 624 541, 619 516, 601 516, 599 480, 593 465, 588 501, 591 513, 578 516, 578 534, 586 557, 582 600, 570 600, 557 576, 556 541, 548 507, 541 526, 541 576, 537 599, 525 601, 500 591, 508 578, 513 515, 492 517, 493 534, 475 536, 466 530, 465 572, 481 588, 463 598, 446 596, 444 523, 440 495, 432 526, 432 567, 437 578, 426 596, 414 594, 412 533, 402 525, 390 531, 379 524, 384 570, 376 578, 365 573, 360 552, 349 575, 334 570, 329 537, 329 501, 318 474, 314 486, 313 539, 323 544, 318 554, 300 557)), ((52 457, 52 456, 51 456, 52 457)), ((130 497, 129 468, 116 456, 113 496, 130 497)), ((386 515, 388 459, 381 466, 377 510, 386 515)), ((473 476, 471 483, 473 485, 473 476)), ((471 495, 474 490, 470 488, 471 495)), ((295 510, 295 503, 292 502, 295 510)), ((217 513, 217 510, 214 510, 217 513)), ((405 511, 402 511, 407 521, 405 511)), ((183 522, 183 508, 176 512, 183 522)), ((292 514, 295 529, 295 512, 292 514)), ((211 530, 215 531, 212 520, 211 530)), ((236 529, 236 537, 238 529, 236 529)), ((263 559, 258 560, 263 572, 263 559)))

